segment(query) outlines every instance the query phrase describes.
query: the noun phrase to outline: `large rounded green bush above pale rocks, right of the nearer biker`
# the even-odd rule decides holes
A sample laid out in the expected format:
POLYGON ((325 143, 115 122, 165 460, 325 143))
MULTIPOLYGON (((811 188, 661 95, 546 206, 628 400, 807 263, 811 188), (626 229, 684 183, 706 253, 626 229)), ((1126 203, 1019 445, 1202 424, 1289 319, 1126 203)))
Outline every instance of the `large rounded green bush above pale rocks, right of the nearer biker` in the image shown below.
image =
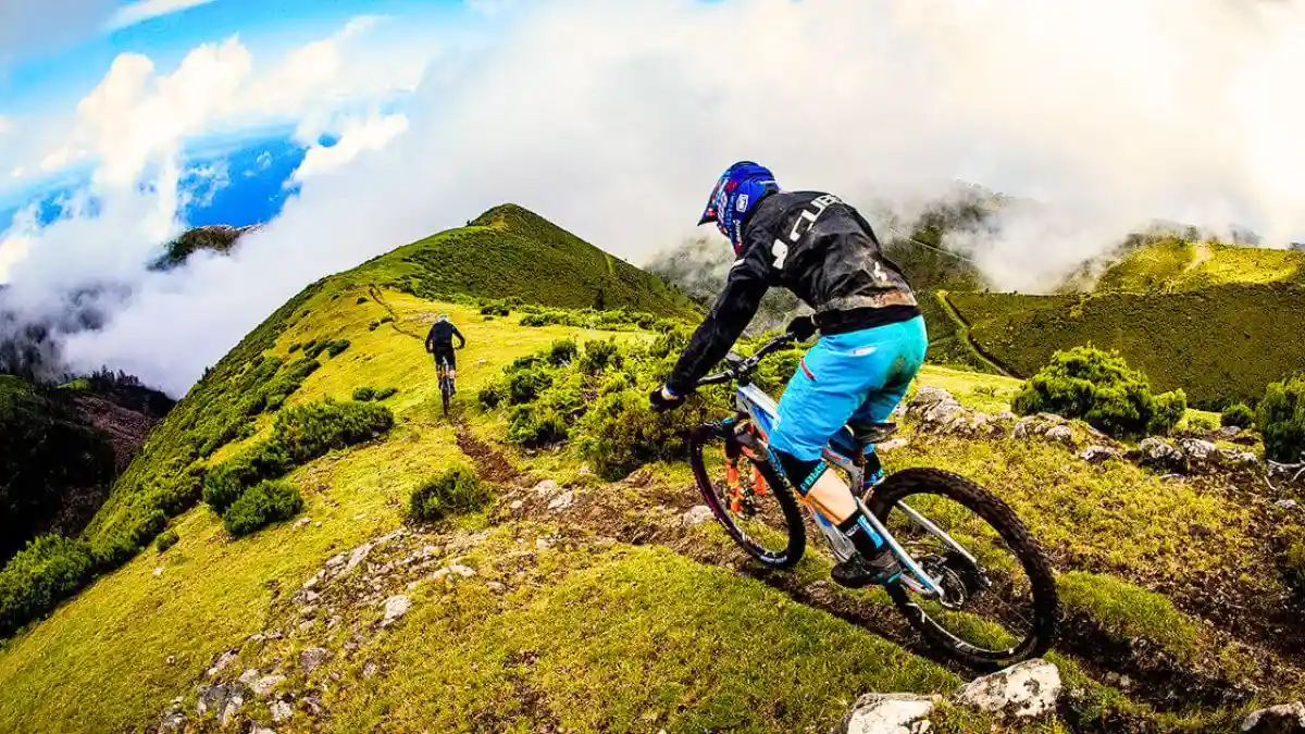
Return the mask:
POLYGON ((1078 346, 1054 353, 1051 363, 1024 383, 1011 407, 1022 415, 1082 418, 1122 438, 1148 428, 1167 432, 1182 418, 1186 396, 1174 391, 1158 400, 1146 377, 1130 370, 1117 353, 1078 346))

